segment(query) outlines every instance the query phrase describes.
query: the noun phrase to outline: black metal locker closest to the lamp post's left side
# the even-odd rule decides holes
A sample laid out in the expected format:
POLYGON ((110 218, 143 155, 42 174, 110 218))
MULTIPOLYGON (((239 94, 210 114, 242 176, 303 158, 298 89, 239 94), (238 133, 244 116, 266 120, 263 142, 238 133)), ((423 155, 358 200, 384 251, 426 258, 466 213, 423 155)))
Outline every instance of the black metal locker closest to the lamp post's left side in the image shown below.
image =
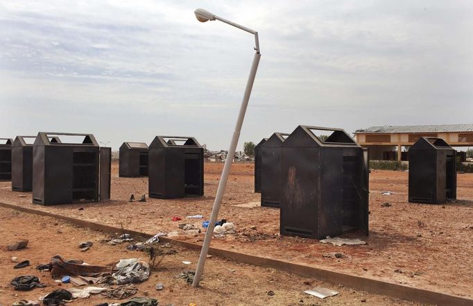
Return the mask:
POLYGON ((156 136, 148 152, 151 198, 203 196, 204 149, 194 137, 156 136))

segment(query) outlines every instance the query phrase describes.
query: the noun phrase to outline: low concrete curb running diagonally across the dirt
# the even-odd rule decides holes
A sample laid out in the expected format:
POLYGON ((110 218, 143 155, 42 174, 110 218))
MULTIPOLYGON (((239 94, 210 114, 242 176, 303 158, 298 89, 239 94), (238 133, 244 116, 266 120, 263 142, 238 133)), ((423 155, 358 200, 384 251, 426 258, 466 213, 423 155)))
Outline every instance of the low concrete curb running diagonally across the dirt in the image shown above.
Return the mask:
MULTIPOLYGON (((51 216, 55 219, 67 221, 76 226, 83 228, 89 228, 91 230, 98 230, 108 234, 120 232, 121 228, 114 226, 106 226, 100 223, 91 221, 85 221, 80 219, 71 218, 69 216, 61 216, 60 214, 53 214, 51 212, 43 212, 32 208, 21 207, 12 204, 6 204, 0 202, 0 207, 10 208, 13 210, 19 210, 21 212, 28 212, 30 214, 37 214, 40 216, 51 216)), ((146 234, 144 232, 138 232, 135 230, 127 230, 131 235, 141 236, 144 238, 152 237, 153 235, 146 234)), ((160 237, 161 241, 171 242, 180 246, 192 250, 200 250, 202 247, 200 244, 194 244, 187 241, 179 241, 167 237, 160 237)), ((382 280, 375 280, 372 278, 363 278, 358 275, 352 275, 349 273, 340 273, 336 271, 330 271, 325 269, 316 268, 313 266, 304 266, 303 264, 294 264, 283 260, 274 260, 268 257, 261 257, 256 255, 248 255, 243 253, 233 252, 231 250, 223 250, 220 248, 210 248, 209 254, 230 258, 237 262, 243 262, 246 264, 252 264, 255 266, 266 266, 289 273, 294 273, 305 278, 316 278, 325 282, 332 282, 334 284, 343 284, 347 287, 354 289, 360 289, 368 291, 372 294, 381 294, 384 296, 392 296, 393 298, 400 298, 403 300, 411 300, 413 302, 430 303, 433 305, 456 305, 456 306, 473 306, 473 299, 461 296, 453 296, 451 294, 445 294, 438 291, 430 291, 427 289, 419 289, 415 287, 406 286, 403 284, 395 284, 393 282, 385 282, 382 280)))

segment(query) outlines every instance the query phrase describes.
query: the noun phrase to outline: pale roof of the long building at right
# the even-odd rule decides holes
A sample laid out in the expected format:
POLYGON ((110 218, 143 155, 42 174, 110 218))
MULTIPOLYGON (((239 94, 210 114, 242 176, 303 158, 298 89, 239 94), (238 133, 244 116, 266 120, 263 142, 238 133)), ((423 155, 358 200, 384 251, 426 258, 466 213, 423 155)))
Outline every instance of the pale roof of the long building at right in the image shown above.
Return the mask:
POLYGON ((473 124, 439 124, 430 126, 371 126, 356 130, 355 134, 397 133, 462 133, 473 132, 473 124))

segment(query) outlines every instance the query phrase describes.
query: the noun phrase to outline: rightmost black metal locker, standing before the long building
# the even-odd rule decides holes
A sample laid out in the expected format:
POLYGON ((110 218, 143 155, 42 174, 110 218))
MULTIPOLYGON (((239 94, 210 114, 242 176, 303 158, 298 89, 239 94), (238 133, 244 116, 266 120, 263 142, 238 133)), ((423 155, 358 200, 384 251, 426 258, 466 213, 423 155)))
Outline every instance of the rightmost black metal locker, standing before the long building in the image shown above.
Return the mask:
POLYGON ((455 157, 455 149, 445 140, 420 137, 409 148, 409 202, 440 204, 455 200, 455 157))

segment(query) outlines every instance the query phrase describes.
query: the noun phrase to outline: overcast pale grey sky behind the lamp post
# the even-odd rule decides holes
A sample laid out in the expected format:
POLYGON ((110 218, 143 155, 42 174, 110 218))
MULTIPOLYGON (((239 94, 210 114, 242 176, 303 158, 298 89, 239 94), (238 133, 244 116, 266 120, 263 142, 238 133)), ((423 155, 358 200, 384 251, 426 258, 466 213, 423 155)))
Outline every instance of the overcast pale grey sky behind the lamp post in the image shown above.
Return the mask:
POLYGON ((0 137, 155 135, 226 149, 259 32, 239 148, 299 124, 467 124, 473 1, 0 0, 0 137))

